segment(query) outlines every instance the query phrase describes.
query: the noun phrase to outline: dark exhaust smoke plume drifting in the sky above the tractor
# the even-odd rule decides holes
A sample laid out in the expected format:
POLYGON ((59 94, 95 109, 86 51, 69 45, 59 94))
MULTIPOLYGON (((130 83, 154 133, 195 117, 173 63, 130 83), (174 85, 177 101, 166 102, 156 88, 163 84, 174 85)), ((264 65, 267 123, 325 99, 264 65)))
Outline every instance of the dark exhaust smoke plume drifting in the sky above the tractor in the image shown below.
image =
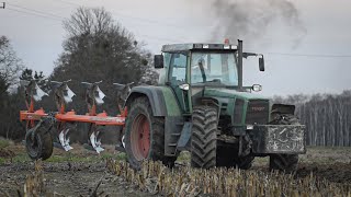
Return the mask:
POLYGON ((267 43, 264 34, 268 30, 274 32, 278 24, 286 28, 288 39, 296 47, 306 34, 298 10, 287 0, 215 0, 212 10, 217 20, 214 40, 225 37, 245 39, 246 44, 261 43, 260 39, 267 43))

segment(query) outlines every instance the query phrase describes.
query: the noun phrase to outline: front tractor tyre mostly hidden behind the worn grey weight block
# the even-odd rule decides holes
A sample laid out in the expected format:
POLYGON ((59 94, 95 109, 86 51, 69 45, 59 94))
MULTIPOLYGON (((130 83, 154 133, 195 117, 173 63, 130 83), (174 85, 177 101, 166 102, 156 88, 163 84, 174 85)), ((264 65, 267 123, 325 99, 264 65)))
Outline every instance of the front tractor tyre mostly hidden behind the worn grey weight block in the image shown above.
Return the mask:
MULTIPOLYGON (((301 125, 297 117, 290 114, 276 114, 272 125, 301 125)), ((297 170, 298 154, 271 154, 270 170, 294 173, 297 170)))

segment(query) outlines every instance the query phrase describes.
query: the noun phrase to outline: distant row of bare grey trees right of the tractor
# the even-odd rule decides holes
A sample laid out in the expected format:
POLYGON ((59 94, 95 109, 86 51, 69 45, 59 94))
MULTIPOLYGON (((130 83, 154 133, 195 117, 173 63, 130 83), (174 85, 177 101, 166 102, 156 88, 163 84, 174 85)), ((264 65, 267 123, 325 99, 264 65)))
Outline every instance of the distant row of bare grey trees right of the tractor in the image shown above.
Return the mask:
POLYGON ((351 91, 341 94, 273 97, 275 103, 295 104, 295 114, 306 125, 308 146, 351 147, 351 91))

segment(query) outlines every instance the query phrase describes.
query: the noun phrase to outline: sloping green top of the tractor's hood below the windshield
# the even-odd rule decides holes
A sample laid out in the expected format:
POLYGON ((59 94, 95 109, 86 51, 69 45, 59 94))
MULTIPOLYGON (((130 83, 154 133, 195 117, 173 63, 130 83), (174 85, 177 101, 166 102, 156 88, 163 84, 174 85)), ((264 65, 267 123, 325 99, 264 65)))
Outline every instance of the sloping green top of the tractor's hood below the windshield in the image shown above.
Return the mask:
POLYGON ((226 97, 226 99, 242 99, 242 100, 268 100, 267 97, 253 94, 249 92, 238 92, 236 90, 229 90, 229 89, 205 89, 205 96, 208 97, 226 97))

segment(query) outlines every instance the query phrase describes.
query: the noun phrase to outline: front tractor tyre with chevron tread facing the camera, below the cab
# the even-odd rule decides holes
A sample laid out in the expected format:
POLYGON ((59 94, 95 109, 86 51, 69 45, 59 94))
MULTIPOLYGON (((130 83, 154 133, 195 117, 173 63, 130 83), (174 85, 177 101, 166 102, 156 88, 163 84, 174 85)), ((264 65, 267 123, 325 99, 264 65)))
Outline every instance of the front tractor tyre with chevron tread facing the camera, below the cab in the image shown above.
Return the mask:
POLYGON ((216 166, 217 111, 211 106, 193 109, 191 135, 191 165, 211 169, 216 166))

